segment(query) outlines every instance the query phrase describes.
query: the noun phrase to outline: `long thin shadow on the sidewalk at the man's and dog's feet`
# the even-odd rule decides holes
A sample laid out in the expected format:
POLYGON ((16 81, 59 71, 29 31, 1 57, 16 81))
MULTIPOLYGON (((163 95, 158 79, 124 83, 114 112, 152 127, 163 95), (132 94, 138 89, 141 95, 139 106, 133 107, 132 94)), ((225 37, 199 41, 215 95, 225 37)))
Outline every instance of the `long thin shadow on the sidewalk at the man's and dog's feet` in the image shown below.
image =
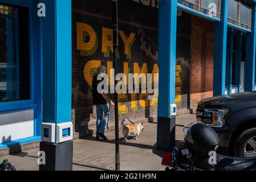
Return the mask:
MULTIPOLYGON (((128 137, 128 140, 132 140, 132 139, 133 139, 133 137, 128 137)), ((104 142, 104 143, 115 144, 115 139, 113 139, 113 140, 103 140, 103 139, 96 140, 95 137, 85 137, 85 138, 82 138, 82 140, 91 140, 91 141, 95 141, 95 142, 104 142)), ((119 144, 123 145, 123 146, 131 146, 131 147, 144 148, 144 149, 149 149, 149 150, 152 150, 154 147, 154 146, 150 146, 147 144, 141 144, 141 143, 129 143, 129 142, 124 143, 123 140, 124 140, 124 137, 119 138, 119 144)))

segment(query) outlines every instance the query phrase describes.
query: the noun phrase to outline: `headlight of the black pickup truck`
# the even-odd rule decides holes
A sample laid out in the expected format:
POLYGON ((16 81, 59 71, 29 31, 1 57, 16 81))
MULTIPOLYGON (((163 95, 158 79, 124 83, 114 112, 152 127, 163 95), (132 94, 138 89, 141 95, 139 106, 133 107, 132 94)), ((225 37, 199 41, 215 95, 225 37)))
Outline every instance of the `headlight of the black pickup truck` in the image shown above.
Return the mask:
POLYGON ((225 123, 225 115, 229 113, 228 109, 206 109, 206 112, 212 113, 213 123, 209 124, 211 127, 223 127, 225 123))

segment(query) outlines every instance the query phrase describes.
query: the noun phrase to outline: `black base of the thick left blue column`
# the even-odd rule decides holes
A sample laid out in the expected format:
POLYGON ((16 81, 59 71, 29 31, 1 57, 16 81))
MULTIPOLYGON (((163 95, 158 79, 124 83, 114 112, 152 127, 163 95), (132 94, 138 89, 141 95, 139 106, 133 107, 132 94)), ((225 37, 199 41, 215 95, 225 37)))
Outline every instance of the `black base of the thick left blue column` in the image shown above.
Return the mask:
POLYGON ((73 141, 59 144, 41 142, 40 151, 46 154, 46 164, 39 171, 72 171, 73 141))

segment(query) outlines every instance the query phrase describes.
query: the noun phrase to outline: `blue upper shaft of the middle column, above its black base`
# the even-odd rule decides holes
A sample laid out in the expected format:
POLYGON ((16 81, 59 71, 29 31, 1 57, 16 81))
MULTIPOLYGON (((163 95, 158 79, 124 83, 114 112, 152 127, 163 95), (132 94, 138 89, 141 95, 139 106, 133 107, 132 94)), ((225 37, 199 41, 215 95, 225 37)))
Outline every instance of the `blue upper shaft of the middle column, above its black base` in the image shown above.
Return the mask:
POLYGON ((159 117, 175 103, 177 0, 159 1, 159 117))

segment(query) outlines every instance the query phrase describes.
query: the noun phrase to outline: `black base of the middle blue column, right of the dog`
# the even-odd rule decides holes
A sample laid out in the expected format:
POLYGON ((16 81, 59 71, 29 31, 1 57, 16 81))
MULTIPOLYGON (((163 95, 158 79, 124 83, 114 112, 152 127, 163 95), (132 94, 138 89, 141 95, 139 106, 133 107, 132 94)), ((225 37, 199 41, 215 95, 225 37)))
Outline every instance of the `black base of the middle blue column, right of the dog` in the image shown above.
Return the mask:
POLYGON ((157 150, 171 152, 176 146, 176 117, 157 118, 157 150))

